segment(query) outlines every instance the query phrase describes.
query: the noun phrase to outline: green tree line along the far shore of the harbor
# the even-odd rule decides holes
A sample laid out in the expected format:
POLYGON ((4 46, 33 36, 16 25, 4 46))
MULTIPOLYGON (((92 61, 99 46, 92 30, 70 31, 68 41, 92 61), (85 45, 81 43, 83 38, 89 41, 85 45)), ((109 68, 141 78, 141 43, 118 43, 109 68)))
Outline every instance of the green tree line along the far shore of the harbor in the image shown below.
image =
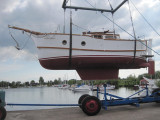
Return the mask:
MULTIPOLYGON (((102 85, 102 84, 110 84, 110 85, 115 85, 117 88, 118 87, 133 87, 134 85, 139 85, 140 80, 143 79, 144 77, 147 78, 152 78, 152 79, 160 79, 160 71, 156 71, 155 75, 148 75, 147 73, 139 75, 136 77, 135 75, 130 75, 125 79, 113 79, 113 80, 95 80, 95 81, 83 81, 83 80, 76 80, 76 79, 71 79, 71 80, 61 80, 61 78, 55 79, 55 80, 49 80, 45 82, 43 77, 39 78, 38 82, 35 82, 35 80, 31 80, 30 82, 24 82, 22 83, 21 81, 12 81, 12 82, 6 82, 6 81, 1 81, 0 82, 0 87, 1 88, 18 88, 18 87, 30 87, 30 86, 53 86, 53 85, 59 85, 59 84, 88 84, 88 85, 102 85)), ((157 85, 160 87, 160 81, 157 82, 157 85)))

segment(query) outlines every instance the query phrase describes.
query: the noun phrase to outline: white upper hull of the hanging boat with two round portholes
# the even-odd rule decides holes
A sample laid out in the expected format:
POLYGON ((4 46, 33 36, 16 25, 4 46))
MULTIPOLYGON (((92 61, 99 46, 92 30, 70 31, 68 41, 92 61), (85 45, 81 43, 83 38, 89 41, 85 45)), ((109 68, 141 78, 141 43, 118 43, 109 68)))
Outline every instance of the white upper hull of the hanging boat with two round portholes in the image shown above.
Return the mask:
MULTIPOLYGON (((69 35, 47 35, 32 37, 37 48, 39 59, 45 58, 64 58, 69 56, 69 35), (63 40, 66 44, 63 44, 63 40)), ((136 57, 148 55, 149 50, 147 45, 149 41, 137 41, 136 57), (146 45, 146 46, 145 46, 146 45)), ((96 39, 89 36, 73 35, 72 56, 133 56, 134 55, 134 40, 104 40, 96 39), (85 42, 82 46, 81 43, 85 42)))

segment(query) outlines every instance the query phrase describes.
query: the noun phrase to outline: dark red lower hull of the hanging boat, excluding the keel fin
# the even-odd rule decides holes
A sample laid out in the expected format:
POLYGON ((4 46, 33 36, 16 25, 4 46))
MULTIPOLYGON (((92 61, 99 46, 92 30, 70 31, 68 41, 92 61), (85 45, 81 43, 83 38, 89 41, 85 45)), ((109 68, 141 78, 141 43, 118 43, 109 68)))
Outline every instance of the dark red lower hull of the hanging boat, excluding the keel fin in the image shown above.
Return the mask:
POLYGON ((51 70, 87 69, 87 68, 118 68, 138 69, 149 67, 149 63, 143 58, 133 56, 72 56, 71 66, 69 57, 53 57, 39 59, 40 64, 51 70))

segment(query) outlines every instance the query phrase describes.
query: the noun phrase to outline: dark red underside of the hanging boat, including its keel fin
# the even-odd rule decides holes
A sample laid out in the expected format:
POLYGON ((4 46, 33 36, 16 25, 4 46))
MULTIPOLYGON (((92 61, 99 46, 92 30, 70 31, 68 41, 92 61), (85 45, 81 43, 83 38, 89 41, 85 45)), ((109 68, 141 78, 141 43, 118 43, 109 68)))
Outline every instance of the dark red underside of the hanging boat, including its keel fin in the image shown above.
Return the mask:
POLYGON ((39 61, 46 69, 75 69, 82 80, 117 79, 119 69, 145 68, 151 64, 141 57, 134 59, 133 56, 72 56, 71 66, 68 56, 44 58, 39 61))

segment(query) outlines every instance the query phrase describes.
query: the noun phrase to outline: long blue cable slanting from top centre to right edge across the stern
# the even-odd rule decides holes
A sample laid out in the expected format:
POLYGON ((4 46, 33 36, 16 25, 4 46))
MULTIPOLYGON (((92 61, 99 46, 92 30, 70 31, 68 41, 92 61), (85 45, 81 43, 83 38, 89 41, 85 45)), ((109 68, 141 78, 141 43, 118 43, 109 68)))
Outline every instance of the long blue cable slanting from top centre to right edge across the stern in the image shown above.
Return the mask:
MULTIPOLYGON (((88 2, 88 0, 85 0, 90 6, 92 6, 93 8, 95 8, 91 3, 88 2)), ((96 9, 96 8, 95 8, 96 9)), ((119 26, 116 22, 112 21, 109 17, 107 17, 106 15, 104 15, 103 13, 101 13, 102 16, 104 16, 105 18, 107 18, 110 22, 112 22, 113 24, 115 24, 117 27, 119 27, 121 30, 123 30, 124 32, 126 32, 128 35, 130 35, 131 37, 134 38, 134 36, 132 34, 130 34, 129 32, 127 32, 125 29, 123 29, 121 26, 119 26)), ((156 53, 157 55, 160 56, 160 54, 158 52, 156 52, 155 50, 153 50, 152 48, 150 48, 148 45, 144 44, 140 39, 139 42, 141 42, 141 44, 143 44, 144 46, 146 46, 148 49, 152 50, 154 53, 156 53)))

